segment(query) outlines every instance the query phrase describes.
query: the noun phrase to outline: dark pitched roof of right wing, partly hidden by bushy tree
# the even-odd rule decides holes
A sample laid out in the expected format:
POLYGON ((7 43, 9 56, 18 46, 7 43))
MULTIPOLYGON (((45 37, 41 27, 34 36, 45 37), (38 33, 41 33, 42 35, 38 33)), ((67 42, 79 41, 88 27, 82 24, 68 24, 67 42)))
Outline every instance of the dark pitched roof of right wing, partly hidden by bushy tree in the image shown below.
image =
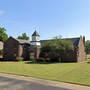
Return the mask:
MULTIPOLYGON (((66 39, 66 40, 70 40, 71 43, 77 47, 78 44, 79 44, 79 40, 80 40, 80 37, 77 37, 77 38, 63 38, 63 39, 66 39)), ((41 40, 41 45, 43 45, 44 43, 48 42, 48 41, 51 41, 51 40, 41 40)))

